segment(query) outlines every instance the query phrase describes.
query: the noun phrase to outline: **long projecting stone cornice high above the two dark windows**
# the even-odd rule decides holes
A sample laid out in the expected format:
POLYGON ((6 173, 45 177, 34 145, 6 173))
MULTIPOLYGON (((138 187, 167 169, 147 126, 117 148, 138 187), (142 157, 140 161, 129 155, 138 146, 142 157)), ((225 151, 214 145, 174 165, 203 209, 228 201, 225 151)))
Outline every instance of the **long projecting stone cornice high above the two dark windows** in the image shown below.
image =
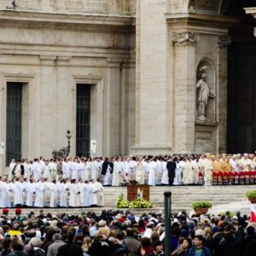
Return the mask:
POLYGON ((0 11, 0 27, 134 33, 131 16, 59 15, 0 11), (16 15, 15 15, 16 14, 16 15))

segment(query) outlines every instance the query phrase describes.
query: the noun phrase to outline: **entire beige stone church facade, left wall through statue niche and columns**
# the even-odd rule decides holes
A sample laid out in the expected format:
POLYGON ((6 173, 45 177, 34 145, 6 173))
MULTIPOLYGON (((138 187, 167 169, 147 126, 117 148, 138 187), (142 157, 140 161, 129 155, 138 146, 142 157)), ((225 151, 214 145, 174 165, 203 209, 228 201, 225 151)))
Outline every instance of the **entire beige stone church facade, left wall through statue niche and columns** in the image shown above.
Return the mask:
POLYGON ((0 142, 7 83, 20 82, 22 157, 49 157, 67 130, 75 154, 76 85, 88 84, 97 155, 227 151, 228 49, 250 29, 226 15, 235 2, 1 1, 0 142))

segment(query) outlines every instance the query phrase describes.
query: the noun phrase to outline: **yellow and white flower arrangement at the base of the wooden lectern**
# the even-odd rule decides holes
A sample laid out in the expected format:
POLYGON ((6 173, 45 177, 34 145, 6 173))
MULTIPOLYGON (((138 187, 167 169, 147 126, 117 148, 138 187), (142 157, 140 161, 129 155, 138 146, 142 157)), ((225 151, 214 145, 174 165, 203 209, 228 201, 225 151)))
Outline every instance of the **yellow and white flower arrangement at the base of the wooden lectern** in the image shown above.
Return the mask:
POLYGON ((143 199, 142 194, 137 195, 137 199, 134 201, 126 201, 124 199, 124 194, 119 195, 119 199, 116 203, 118 208, 152 208, 153 203, 143 199))

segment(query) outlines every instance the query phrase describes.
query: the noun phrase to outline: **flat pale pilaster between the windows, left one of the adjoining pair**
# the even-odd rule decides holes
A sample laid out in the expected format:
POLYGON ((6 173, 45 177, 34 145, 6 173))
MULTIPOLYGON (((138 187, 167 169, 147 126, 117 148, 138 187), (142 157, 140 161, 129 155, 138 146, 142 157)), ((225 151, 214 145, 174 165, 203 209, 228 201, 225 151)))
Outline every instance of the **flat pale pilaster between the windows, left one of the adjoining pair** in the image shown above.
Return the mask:
POLYGON ((55 56, 40 55, 41 86, 39 93, 40 155, 50 157, 55 145, 55 56))

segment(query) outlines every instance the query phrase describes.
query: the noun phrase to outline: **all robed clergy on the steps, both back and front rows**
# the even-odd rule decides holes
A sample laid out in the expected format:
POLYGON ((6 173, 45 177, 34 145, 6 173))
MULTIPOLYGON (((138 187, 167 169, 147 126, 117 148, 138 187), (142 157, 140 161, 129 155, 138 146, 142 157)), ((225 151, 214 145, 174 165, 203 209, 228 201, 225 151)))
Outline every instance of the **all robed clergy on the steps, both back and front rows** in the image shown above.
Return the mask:
POLYGON ((103 206, 103 186, 135 179, 155 185, 256 183, 254 154, 117 156, 12 160, 0 181, 0 207, 103 206))

